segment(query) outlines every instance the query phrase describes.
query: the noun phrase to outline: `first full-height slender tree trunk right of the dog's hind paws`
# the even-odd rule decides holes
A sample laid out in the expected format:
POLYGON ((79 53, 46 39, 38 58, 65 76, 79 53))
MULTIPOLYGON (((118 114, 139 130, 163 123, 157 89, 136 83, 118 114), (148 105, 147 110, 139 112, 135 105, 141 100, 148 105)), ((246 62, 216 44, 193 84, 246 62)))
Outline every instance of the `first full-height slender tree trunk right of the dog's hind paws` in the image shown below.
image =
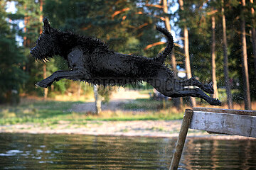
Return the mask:
POLYGON ((224 0, 222 2, 221 13, 223 18, 223 55, 224 55, 224 79, 225 79, 225 88, 226 94, 228 96, 228 108, 233 108, 231 88, 230 88, 230 79, 228 77, 228 44, 227 44, 227 35, 226 35, 226 23, 225 23, 225 13, 224 13, 224 0))

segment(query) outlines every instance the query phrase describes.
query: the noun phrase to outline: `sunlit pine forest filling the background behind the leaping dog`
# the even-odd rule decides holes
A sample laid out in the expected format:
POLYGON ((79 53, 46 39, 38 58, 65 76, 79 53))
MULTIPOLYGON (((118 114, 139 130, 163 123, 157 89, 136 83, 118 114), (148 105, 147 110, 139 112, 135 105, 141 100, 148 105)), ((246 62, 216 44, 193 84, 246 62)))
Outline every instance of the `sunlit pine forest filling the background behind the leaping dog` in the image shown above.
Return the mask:
MULTIPOLYGON (((166 39, 155 26, 165 27, 175 41, 165 64, 179 79, 213 81, 213 97, 228 108, 244 103, 250 110, 256 100, 253 0, 1 0, 0 5, 0 103, 18 103, 21 96, 52 98, 67 91, 92 91, 90 84, 65 79, 48 89, 35 86, 53 72, 68 69, 60 57, 47 63, 31 57, 44 17, 59 30, 97 37, 116 52, 146 57, 164 50, 166 39)), ((97 91, 107 96, 112 89, 97 91)), ((191 99, 192 106, 196 102, 191 99)))

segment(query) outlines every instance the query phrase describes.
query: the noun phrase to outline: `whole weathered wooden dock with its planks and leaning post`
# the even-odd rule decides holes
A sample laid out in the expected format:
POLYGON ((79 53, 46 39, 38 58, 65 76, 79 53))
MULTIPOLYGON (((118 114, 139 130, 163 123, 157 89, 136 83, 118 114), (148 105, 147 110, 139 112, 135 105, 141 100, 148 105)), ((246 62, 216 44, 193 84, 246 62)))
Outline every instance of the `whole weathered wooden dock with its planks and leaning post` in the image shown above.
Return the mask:
POLYGON ((256 111, 223 108, 193 108, 193 111, 186 109, 169 170, 178 169, 188 128, 256 137, 256 111))

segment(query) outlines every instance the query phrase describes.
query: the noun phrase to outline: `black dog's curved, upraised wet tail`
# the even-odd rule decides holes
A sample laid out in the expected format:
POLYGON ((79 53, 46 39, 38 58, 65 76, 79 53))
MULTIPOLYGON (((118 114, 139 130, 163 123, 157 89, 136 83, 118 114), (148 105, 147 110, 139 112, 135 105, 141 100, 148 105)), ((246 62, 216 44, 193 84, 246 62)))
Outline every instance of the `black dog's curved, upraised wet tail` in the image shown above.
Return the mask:
POLYGON ((167 45, 163 52, 160 52, 157 57, 154 57, 154 60, 156 62, 164 63, 164 60, 166 60, 166 57, 171 53, 173 47, 174 47, 174 39, 171 35, 171 33, 166 30, 166 28, 161 28, 160 26, 156 26, 156 30, 159 30, 161 33, 166 35, 167 37, 167 45))

